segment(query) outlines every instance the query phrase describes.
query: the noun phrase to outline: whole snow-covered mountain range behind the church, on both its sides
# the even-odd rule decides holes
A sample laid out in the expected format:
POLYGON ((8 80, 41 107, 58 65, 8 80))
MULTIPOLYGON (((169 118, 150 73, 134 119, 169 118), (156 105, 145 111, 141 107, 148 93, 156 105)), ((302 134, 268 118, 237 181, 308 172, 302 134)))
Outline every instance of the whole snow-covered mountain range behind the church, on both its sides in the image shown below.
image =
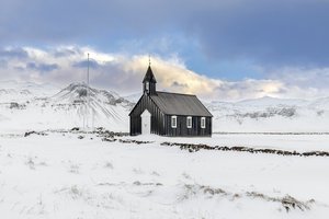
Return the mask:
MULTIPOLYGON (((122 97, 113 91, 72 83, 0 82, 0 128, 53 129, 105 127, 128 131, 128 113, 140 93, 122 97)), ((327 132, 329 97, 317 100, 261 99, 205 104, 220 132, 327 132)))

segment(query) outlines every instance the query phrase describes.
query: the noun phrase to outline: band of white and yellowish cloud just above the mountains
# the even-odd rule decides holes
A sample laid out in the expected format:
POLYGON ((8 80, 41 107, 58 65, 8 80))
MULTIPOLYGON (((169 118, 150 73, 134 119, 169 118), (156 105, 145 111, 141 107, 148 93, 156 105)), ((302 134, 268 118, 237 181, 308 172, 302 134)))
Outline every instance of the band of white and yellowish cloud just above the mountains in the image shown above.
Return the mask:
MULTIPOLYGON (((47 82, 61 87, 84 81, 89 53, 92 61, 90 69, 92 85, 128 94, 140 92, 141 80, 148 67, 148 55, 105 54, 91 47, 5 49, 2 49, 2 54, 10 56, 0 58, 2 80, 47 82), (13 49, 15 53, 11 53, 13 49), (27 57, 19 56, 19 51, 27 54, 27 57)), ((272 79, 246 79, 232 82, 193 72, 175 54, 169 58, 152 56, 151 68, 158 81, 158 90, 194 93, 202 99, 241 100, 265 95, 315 97, 328 93, 328 89, 320 82, 306 83, 310 78, 315 80, 317 77, 322 77, 322 81, 329 82, 328 69, 307 69, 307 71, 282 69, 276 70, 277 72, 273 71, 272 79)), ((318 80, 321 81, 321 79, 318 80)))

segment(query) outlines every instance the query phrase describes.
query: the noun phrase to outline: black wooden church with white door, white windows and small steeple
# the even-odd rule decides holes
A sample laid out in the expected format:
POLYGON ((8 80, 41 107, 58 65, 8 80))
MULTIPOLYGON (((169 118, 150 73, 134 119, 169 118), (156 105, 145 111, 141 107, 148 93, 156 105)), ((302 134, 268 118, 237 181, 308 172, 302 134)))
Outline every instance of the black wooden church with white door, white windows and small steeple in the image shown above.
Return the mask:
POLYGON ((212 136, 213 115, 195 95, 160 92, 150 66, 143 80, 143 95, 132 110, 131 135, 212 136))

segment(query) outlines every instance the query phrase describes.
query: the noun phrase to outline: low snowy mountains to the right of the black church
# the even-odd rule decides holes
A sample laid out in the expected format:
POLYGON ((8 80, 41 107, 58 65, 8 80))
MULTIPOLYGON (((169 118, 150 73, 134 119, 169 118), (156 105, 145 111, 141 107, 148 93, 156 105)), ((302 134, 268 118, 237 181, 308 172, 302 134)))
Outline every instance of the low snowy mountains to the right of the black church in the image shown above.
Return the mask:
POLYGON ((206 104, 214 115, 214 131, 223 132, 327 132, 329 99, 313 101, 261 97, 206 104))

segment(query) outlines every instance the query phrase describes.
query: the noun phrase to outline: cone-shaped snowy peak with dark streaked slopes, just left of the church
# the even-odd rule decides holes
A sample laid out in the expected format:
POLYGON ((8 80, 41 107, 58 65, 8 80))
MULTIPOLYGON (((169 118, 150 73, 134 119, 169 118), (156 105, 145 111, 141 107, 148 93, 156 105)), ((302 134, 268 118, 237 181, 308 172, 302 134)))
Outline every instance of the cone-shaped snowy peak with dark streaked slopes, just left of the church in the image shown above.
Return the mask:
POLYGON ((55 111, 75 117, 77 126, 82 120, 83 126, 126 131, 128 112, 134 106, 115 92, 88 88, 84 83, 72 83, 48 100, 55 111))

